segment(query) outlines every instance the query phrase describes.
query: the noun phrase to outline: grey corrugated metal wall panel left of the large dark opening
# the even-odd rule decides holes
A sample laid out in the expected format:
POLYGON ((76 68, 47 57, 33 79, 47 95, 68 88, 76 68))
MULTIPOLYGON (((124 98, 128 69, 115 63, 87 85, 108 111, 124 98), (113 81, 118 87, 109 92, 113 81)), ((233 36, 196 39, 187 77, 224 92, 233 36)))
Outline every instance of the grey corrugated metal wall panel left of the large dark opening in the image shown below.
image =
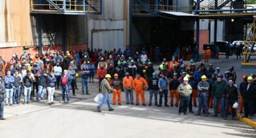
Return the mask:
POLYGON ((126 0, 102 1, 102 15, 88 19, 88 47, 124 50, 126 46, 126 0))

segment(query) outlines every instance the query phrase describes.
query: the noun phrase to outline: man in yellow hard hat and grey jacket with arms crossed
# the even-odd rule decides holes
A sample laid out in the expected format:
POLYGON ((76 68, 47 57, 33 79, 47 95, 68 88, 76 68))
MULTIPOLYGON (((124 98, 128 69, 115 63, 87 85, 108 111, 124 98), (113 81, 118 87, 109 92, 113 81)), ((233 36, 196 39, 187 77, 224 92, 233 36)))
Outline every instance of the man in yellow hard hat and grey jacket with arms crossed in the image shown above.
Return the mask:
POLYGON ((209 83, 206 81, 207 77, 205 75, 202 75, 201 77, 202 81, 200 81, 197 85, 197 91, 198 91, 198 111, 195 114, 196 116, 201 116, 201 110, 202 106, 205 105, 205 116, 208 117, 208 106, 207 106, 207 101, 208 101, 208 89, 210 87, 209 83))

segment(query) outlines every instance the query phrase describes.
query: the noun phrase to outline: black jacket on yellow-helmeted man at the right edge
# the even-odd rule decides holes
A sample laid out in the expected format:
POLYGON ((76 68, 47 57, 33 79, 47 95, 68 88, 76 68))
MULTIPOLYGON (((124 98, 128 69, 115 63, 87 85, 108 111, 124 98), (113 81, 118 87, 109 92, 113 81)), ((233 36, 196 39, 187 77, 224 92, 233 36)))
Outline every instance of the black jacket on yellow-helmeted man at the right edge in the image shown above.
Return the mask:
POLYGON ((254 99, 256 97, 256 86, 251 84, 247 89, 248 83, 244 85, 243 91, 241 91, 241 95, 243 98, 254 99))

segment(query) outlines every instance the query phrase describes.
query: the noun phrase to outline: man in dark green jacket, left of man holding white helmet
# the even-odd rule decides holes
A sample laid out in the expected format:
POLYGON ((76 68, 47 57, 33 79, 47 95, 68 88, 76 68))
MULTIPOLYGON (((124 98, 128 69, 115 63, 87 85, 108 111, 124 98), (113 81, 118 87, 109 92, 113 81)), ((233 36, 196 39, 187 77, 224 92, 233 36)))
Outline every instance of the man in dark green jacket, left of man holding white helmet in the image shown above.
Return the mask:
POLYGON ((221 105, 221 117, 224 117, 224 88, 226 86, 226 83, 222 81, 221 75, 218 75, 217 81, 212 86, 212 92, 214 97, 214 115, 213 117, 218 116, 218 106, 219 103, 221 105))

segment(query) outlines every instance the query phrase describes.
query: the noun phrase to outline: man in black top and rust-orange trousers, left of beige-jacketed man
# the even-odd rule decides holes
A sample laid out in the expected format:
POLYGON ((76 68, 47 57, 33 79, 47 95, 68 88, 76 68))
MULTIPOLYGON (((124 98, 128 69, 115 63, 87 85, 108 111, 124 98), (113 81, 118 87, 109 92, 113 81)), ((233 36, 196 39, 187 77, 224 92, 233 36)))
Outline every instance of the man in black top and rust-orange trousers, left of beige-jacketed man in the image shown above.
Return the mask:
POLYGON ((169 83, 169 91, 170 91, 170 95, 171 95, 171 107, 173 106, 173 99, 174 99, 174 95, 175 95, 175 106, 179 107, 179 100, 180 100, 180 95, 179 92, 177 91, 178 86, 180 85, 180 81, 177 79, 177 73, 173 74, 173 78, 171 79, 170 83, 169 83))

